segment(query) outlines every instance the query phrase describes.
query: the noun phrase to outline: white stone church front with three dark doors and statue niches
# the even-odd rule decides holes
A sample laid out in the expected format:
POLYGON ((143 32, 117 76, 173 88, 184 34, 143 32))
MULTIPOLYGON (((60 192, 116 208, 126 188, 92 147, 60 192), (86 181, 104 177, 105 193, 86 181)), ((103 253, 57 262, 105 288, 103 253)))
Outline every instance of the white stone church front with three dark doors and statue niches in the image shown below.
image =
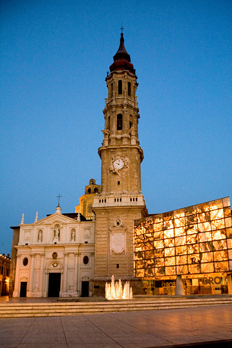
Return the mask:
POLYGON ((91 296, 88 282, 94 272, 95 221, 80 221, 79 214, 77 219, 70 218, 57 207, 56 213, 45 219, 31 224, 22 222, 15 246, 13 297, 22 291, 26 297, 91 296), (58 276, 59 289, 53 289, 51 274, 58 276))

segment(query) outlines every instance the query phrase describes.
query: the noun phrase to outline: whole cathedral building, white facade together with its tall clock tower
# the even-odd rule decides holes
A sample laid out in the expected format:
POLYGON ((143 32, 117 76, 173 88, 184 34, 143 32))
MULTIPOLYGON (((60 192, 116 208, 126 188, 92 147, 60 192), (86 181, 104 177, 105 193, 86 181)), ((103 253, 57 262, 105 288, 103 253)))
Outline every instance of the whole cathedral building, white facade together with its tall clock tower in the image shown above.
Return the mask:
POLYGON ((141 194, 137 76, 121 33, 107 74, 101 185, 89 180, 76 212, 52 215, 13 228, 10 296, 104 296, 105 282, 130 280, 134 293, 133 221, 146 216, 141 194))

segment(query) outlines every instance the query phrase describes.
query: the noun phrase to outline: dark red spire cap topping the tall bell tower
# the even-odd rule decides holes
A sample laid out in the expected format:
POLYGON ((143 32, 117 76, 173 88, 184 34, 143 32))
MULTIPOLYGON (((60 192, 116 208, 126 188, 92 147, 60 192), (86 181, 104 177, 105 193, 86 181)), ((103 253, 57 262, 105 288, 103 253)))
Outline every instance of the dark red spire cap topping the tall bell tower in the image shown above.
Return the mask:
POLYGON ((114 70, 129 70, 135 74, 134 66, 130 63, 130 54, 125 49, 123 33, 121 33, 118 51, 113 58, 114 63, 109 67, 110 72, 114 70))

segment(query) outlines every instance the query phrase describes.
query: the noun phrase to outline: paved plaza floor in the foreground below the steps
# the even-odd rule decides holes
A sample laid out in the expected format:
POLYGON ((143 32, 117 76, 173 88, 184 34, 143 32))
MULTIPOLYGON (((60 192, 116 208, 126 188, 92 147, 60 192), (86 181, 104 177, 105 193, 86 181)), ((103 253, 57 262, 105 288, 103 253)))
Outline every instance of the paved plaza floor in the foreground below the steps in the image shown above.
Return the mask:
POLYGON ((164 348, 192 345, 231 348, 232 305, 67 317, 0 318, 1 348, 164 348))

